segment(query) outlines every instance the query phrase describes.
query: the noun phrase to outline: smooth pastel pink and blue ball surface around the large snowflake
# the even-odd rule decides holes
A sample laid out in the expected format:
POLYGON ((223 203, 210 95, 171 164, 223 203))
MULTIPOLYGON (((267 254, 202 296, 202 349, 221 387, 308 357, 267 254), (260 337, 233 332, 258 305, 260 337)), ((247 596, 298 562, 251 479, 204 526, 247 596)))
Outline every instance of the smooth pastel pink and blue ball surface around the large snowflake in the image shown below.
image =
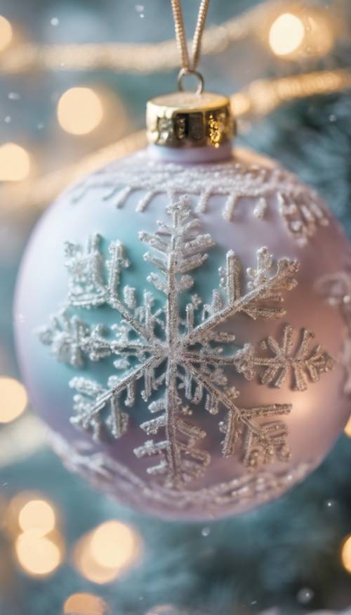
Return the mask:
MULTIPOLYGON (((158 148, 156 154, 155 164, 164 164, 166 168, 170 162, 169 152, 166 148, 158 148)), ((208 153, 200 153, 196 148, 188 150, 185 164, 183 152, 179 150, 172 153, 171 162, 185 164, 187 169, 195 170, 200 164, 206 176, 206 164, 210 161, 204 162, 204 156, 208 157, 208 153)), ((138 176, 140 168, 147 165, 150 158, 155 160, 154 148, 133 155, 127 161, 129 171, 133 172, 135 165, 135 176, 138 176)), ((246 150, 234 151, 232 162, 228 164, 237 163, 246 167, 248 173, 253 173, 252 169, 276 168, 271 160, 246 150)), ((113 179, 114 174, 117 176, 125 164, 125 160, 112 164, 109 177, 113 179)), ((103 179, 103 174, 101 177, 103 179)), ((284 177, 282 171, 283 183, 284 177)), ((289 178, 286 174, 286 181, 289 178)), ((302 193, 308 194, 307 188, 299 186, 302 193)), ((128 183, 120 187, 128 188, 128 183)), ((145 264, 139 267, 145 247, 138 242, 138 232, 151 233, 158 219, 168 220, 166 186, 164 190, 161 187, 155 190, 142 211, 135 210, 138 210, 143 192, 150 190, 150 186, 145 190, 130 190, 121 207, 116 207, 113 195, 107 197, 103 181, 96 181, 95 186, 83 189, 77 199, 74 199, 77 195, 75 190, 63 194, 39 221, 23 258, 15 302, 16 339, 22 374, 35 410, 51 429, 54 446, 72 469, 82 472, 122 503, 161 517, 216 518, 249 510, 279 496, 318 465, 345 425, 350 413, 350 399, 343 392, 345 368, 339 363, 331 372, 322 374, 319 382, 309 382, 306 391, 294 391, 290 375, 282 388, 276 388, 260 384, 258 378, 248 382, 233 371, 229 384, 240 391, 242 406, 293 404, 291 413, 282 418, 289 432, 291 460, 288 463, 273 462, 263 470, 250 472, 242 464, 239 454, 223 458, 220 448, 223 434, 218 429, 223 415, 209 415, 200 404, 194 410, 192 421, 197 422, 207 434, 199 446, 211 454, 211 463, 203 478, 193 481, 180 492, 155 486, 155 479, 147 474, 150 460, 135 457, 133 449, 145 441, 145 433, 140 429, 138 420, 138 408, 131 408, 128 432, 116 441, 107 439, 96 444, 88 434, 81 434, 69 423, 73 391, 69 389, 68 382, 75 375, 75 370, 58 363, 34 333, 48 322, 51 314, 57 313, 67 297, 64 242, 84 243, 88 235, 95 232, 107 241, 120 239, 126 247, 128 258, 130 254, 133 261, 131 282, 128 278, 126 283, 140 290, 145 287, 151 290, 145 280, 145 264)), ((192 191, 190 183, 184 183, 181 190, 181 193, 187 192, 190 193, 192 209, 197 209, 199 195, 192 191)), ((177 191, 179 193, 180 190, 177 191)), ((225 264, 228 250, 234 250, 244 272, 247 267, 256 265, 256 251, 263 246, 267 246, 274 259, 297 259, 300 262, 298 286, 284 295, 286 316, 282 321, 253 321, 239 315, 230 325, 226 325, 226 330, 235 332, 239 346, 249 342, 257 347, 269 335, 280 339, 284 324, 289 323, 298 332, 302 328, 312 330, 315 343, 321 344, 331 356, 337 358, 343 346, 345 323, 340 311, 321 297, 317 283, 328 273, 345 271, 350 264, 350 247, 343 231, 326 212, 329 225, 317 225, 315 233, 301 245, 288 232, 279 212, 277 190, 272 188, 265 200, 267 209, 264 216, 256 217, 253 209, 258 198, 243 193, 235 205, 232 219, 225 219, 226 195, 218 190, 218 193, 209 196, 206 208, 197 215, 201 219, 203 232, 211 234, 216 249, 213 254, 211 250, 208 252, 206 270, 200 272, 194 290, 206 300, 211 299, 211 291, 218 280, 218 263, 225 264)), ((110 324, 110 316, 104 316, 103 312, 95 315, 91 310, 89 318, 92 322, 95 316, 96 321, 102 322, 107 318, 110 324)), ((110 371, 103 362, 90 362, 86 375, 106 382, 110 371)))

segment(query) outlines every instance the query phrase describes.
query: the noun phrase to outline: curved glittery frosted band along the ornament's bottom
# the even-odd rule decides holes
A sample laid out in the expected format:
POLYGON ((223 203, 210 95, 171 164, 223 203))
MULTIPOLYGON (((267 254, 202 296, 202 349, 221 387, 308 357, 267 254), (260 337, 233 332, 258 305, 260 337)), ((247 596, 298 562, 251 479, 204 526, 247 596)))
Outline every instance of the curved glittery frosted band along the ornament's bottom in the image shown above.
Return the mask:
POLYGON ((50 429, 47 429, 47 436, 68 470, 79 472, 96 488, 124 502, 133 503, 142 510, 145 510, 145 503, 163 505, 163 514, 166 514, 171 505, 170 518, 174 518, 174 511, 187 511, 199 505, 202 514, 213 519, 227 507, 230 507, 231 512, 233 507, 236 512, 240 512, 243 507, 269 502, 281 496, 294 483, 302 481, 319 462, 314 459, 300 462, 293 468, 284 466, 274 474, 267 471, 258 474, 246 472, 242 477, 221 481, 212 487, 194 489, 190 486, 179 491, 141 479, 130 467, 112 459, 110 455, 88 450, 86 441, 76 441, 71 446, 50 429))

